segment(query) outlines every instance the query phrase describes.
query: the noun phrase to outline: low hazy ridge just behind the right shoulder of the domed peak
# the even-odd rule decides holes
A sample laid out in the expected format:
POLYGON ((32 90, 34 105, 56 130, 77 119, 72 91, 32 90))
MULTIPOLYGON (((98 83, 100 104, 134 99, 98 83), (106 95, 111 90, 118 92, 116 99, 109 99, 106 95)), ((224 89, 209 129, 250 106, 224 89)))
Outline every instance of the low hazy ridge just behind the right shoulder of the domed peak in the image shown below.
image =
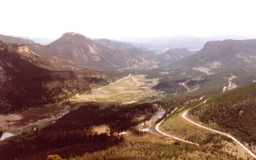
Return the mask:
POLYGON ((133 45, 125 42, 117 42, 117 41, 111 41, 109 39, 92 39, 95 43, 98 43, 99 45, 112 48, 112 49, 131 49, 133 48, 133 45))

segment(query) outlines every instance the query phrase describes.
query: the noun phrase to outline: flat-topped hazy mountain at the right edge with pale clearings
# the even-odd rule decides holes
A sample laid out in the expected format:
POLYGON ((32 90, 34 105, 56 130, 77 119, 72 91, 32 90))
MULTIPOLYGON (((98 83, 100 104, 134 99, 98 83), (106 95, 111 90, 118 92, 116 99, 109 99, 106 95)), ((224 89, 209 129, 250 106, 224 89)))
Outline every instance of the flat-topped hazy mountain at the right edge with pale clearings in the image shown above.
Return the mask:
POLYGON ((233 68, 255 68, 255 50, 256 39, 210 41, 200 51, 169 64, 166 68, 188 74, 195 71, 198 74, 212 74, 233 68))

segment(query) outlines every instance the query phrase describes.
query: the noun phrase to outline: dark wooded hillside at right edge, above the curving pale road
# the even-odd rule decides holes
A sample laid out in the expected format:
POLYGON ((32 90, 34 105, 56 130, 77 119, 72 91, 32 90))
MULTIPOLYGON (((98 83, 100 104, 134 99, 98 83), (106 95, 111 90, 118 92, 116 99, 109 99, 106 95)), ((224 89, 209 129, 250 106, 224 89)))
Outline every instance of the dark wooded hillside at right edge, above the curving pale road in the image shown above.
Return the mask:
POLYGON ((189 111, 199 121, 248 144, 256 144, 256 83, 217 94, 189 111), (216 125, 214 125, 216 124, 216 125))

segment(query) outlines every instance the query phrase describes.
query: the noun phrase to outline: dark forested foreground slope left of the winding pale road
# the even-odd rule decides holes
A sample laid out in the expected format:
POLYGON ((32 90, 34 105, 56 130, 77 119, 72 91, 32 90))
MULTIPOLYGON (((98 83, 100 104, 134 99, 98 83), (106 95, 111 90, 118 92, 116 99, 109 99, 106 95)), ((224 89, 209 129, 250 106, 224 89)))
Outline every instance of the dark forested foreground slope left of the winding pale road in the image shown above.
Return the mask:
POLYGON ((45 159, 50 154, 70 159, 235 158, 218 148, 180 144, 135 129, 163 108, 179 104, 184 104, 184 100, 130 106, 90 102, 77 104, 78 108, 72 104, 72 111, 44 129, 26 130, 3 141, 0 153, 4 159, 45 159), (118 134, 126 130, 130 137, 118 134))

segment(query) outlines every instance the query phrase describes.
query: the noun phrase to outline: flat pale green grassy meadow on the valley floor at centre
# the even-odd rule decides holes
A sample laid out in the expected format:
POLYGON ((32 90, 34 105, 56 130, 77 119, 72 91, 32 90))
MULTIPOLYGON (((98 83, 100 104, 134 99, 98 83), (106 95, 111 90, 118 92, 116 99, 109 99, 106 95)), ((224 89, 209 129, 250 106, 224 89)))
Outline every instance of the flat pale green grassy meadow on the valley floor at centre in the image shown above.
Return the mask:
POLYGON ((146 97, 157 96, 157 90, 151 89, 157 83, 158 79, 146 79, 145 75, 132 75, 113 85, 95 89, 90 94, 81 94, 80 97, 106 103, 129 104, 146 97))

